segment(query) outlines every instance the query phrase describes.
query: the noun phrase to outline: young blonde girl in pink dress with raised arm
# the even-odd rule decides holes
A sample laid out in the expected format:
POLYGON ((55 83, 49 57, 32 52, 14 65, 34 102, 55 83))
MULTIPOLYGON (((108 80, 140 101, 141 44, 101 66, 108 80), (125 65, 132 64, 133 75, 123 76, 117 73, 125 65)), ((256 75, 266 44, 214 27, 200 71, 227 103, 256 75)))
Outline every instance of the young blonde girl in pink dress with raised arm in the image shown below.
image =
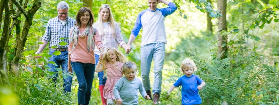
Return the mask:
POLYGON ((113 94, 113 87, 123 76, 122 66, 125 62, 125 55, 119 52, 116 48, 109 48, 105 51, 104 57, 100 59, 97 64, 95 72, 98 73, 104 71, 104 76, 107 77, 104 87, 104 98, 107 99, 108 105, 114 105, 114 100, 116 100, 113 94))

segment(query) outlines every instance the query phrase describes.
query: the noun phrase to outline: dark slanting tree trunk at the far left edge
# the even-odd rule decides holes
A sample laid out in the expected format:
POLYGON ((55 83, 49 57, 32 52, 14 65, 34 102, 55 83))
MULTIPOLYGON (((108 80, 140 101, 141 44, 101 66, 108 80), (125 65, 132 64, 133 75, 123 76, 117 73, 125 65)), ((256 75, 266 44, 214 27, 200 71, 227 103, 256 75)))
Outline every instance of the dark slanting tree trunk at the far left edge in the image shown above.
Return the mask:
POLYGON ((4 57, 4 51, 5 51, 5 45, 6 45, 6 41, 9 40, 8 36, 9 36, 9 28, 10 28, 10 24, 11 24, 11 11, 9 9, 9 4, 8 4, 8 0, 4 0, 4 9, 5 9, 5 17, 4 17, 4 26, 3 26, 3 33, 2 33, 2 38, 0 40, 0 70, 3 70, 4 64, 6 64, 6 62, 4 62, 4 59, 6 58, 6 56, 4 57))

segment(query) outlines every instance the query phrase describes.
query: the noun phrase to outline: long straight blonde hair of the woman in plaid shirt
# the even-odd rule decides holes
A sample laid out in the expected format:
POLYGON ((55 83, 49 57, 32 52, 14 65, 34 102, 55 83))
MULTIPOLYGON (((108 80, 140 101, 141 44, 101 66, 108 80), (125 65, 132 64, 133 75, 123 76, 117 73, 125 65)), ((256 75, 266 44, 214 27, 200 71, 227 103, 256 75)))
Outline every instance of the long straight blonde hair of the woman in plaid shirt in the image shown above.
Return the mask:
POLYGON ((99 9, 99 13, 98 13, 99 30, 98 31, 99 31, 100 35, 104 34, 103 19, 102 19, 102 15, 101 15, 101 10, 103 8, 109 9, 109 18, 108 18, 109 19, 109 25, 110 25, 110 28, 112 29, 112 33, 113 33, 113 36, 114 36, 114 34, 115 34, 115 24, 114 24, 114 19, 113 19, 113 15, 112 15, 109 4, 103 4, 99 9))

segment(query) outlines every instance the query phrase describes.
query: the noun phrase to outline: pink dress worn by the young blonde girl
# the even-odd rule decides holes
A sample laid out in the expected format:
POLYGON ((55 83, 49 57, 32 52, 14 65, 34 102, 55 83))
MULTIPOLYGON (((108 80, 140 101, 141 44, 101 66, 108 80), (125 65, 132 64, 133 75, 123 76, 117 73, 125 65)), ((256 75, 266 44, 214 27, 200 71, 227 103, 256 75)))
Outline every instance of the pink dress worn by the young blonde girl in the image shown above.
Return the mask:
POLYGON ((113 87, 116 82, 123 76, 122 66, 124 63, 118 62, 114 65, 107 63, 107 81, 105 82, 104 87, 104 98, 105 99, 116 99, 113 94, 113 87), (117 67, 117 68, 116 68, 117 67))

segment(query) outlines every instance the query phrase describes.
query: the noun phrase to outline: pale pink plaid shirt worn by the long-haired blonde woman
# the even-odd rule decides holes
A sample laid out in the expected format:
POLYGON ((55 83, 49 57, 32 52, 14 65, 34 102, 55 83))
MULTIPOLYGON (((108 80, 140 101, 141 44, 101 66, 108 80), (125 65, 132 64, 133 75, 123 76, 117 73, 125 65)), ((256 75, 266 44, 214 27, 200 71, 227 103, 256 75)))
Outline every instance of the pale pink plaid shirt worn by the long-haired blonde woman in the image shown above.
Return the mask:
MULTIPOLYGON (((118 49, 118 46, 122 46, 122 44, 125 44, 125 41, 121 34, 121 29, 117 22, 114 22, 115 24, 115 36, 112 34, 112 29, 110 28, 110 25, 108 24, 107 27, 104 27, 104 33, 101 35, 101 40, 104 45, 104 50, 106 51, 108 48, 116 48, 118 49)), ((93 24, 93 27, 96 28, 99 31, 99 22, 93 24)), ((98 48, 95 46, 94 53, 100 55, 101 52, 98 50, 98 48)))

